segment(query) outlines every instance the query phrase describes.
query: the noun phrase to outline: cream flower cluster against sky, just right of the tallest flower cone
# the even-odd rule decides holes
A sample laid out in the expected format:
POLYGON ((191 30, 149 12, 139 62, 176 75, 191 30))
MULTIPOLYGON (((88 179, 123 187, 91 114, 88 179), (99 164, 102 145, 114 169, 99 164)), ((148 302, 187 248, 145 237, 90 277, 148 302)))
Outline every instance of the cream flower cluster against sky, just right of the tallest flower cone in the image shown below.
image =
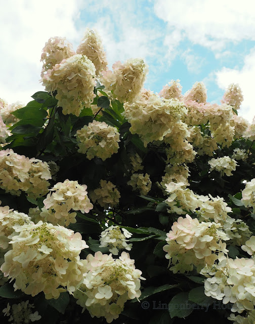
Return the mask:
POLYGON ((148 66, 143 59, 129 59, 123 64, 112 65, 113 71, 102 71, 102 82, 106 90, 112 91, 120 102, 133 102, 145 82, 148 66))

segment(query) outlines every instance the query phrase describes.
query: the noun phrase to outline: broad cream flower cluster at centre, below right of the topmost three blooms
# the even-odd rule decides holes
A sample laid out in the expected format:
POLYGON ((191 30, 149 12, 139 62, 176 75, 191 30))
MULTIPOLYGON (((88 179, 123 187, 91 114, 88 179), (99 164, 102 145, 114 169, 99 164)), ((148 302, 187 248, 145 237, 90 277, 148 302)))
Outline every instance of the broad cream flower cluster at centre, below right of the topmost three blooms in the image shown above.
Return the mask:
POLYGON ((144 146, 160 140, 168 133, 174 136, 175 124, 187 109, 176 99, 162 99, 151 91, 143 91, 133 103, 124 104, 124 115, 131 124, 130 132, 139 134, 144 146))

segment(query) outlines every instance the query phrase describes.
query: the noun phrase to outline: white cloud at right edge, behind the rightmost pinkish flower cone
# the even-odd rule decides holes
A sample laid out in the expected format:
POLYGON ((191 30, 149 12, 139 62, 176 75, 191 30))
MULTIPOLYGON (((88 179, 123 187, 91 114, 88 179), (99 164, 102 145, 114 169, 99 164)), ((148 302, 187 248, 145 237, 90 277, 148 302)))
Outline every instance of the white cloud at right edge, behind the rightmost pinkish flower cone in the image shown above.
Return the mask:
POLYGON ((240 115, 249 121, 255 115, 254 106, 254 75, 255 75, 255 48, 244 59, 241 69, 230 69, 224 67, 216 72, 216 81, 221 89, 226 89, 231 83, 239 84, 243 93, 243 103, 240 115))

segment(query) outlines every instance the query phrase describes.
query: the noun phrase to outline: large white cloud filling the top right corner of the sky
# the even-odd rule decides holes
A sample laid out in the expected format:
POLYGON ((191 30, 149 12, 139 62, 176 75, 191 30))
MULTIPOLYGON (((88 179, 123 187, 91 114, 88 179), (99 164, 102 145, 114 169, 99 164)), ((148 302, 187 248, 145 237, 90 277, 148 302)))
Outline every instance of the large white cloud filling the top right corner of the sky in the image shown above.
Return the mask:
POLYGON ((228 42, 255 40, 254 1, 156 0, 156 15, 194 44, 222 51, 228 42))

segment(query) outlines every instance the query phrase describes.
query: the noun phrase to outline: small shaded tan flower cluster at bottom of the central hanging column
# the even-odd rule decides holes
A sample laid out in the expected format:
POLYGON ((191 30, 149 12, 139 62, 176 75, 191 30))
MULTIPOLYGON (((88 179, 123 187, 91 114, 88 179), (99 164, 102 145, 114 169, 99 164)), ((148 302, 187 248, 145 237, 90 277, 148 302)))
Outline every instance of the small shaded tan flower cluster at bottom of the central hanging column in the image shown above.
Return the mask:
POLYGON ((165 174, 162 176, 162 181, 160 182, 164 193, 166 193, 166 184, 171 182, 182 182, 184 186, 189 185, 188 177, 190 173, 189 168, 186 165, 167 165, 164 172, 165 174))

